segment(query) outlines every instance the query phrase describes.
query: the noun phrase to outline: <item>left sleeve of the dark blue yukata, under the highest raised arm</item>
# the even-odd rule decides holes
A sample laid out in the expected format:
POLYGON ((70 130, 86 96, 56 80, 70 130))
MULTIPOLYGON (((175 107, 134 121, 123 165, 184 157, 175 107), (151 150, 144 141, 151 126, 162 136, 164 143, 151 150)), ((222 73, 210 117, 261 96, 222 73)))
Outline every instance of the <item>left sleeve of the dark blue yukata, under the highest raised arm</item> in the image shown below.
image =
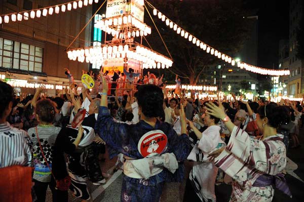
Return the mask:
POLYGON ((95 131, 109 147, 110 158, 118 153, 126 154, 123 149, 123 145, 126 145, 128 141, 126 126, 126 124, 115 122, 107 107, 99 107, 95 131))

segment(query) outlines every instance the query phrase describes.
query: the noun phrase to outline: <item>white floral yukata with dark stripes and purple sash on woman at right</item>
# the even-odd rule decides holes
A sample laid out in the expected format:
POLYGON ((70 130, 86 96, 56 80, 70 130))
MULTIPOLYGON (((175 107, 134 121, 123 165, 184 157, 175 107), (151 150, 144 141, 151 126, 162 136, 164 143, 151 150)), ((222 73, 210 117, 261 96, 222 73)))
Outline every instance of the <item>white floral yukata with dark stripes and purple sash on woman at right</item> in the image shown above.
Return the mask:
POLYGON ((272 201, 272 178, 278 189, 290 195, 280 175, 286 166, 283 137, 276 134, 261 141, 234 127, 226 149, 215 158, 215 165, 233 179, 230 202, 272 201))

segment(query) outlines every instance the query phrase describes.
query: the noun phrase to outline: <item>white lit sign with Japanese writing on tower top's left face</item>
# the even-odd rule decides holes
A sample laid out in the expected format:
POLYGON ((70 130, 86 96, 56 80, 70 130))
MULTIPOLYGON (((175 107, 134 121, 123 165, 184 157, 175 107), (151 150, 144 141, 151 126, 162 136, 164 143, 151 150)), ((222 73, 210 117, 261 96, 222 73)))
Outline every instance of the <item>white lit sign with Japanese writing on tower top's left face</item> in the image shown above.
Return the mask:
POLYGON ((126 8, 127 0, 107 0, 105 17, 124 15, 126 14, 126 8))

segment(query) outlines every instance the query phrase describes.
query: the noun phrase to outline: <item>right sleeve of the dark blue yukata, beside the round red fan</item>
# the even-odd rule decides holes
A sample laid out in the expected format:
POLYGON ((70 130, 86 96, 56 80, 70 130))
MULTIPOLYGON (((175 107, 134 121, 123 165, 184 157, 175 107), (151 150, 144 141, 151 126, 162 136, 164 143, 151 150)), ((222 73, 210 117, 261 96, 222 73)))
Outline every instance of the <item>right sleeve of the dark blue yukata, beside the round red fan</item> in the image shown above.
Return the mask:
POLYGON ((171 152, 176 156, 177 161, 184 161, 190 152, 191 142, 187 134, 180 136, 171 128, 169 130, 171 152))

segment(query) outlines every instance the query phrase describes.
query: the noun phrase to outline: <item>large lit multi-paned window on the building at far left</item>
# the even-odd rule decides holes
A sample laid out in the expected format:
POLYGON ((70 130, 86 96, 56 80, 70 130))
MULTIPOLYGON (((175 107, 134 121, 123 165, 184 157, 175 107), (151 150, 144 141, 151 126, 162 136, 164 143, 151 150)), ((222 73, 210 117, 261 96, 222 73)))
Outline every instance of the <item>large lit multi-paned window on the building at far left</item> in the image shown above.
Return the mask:
POLYGON ((42 72, 43 48, 0 38, 0 66, 42 72))

